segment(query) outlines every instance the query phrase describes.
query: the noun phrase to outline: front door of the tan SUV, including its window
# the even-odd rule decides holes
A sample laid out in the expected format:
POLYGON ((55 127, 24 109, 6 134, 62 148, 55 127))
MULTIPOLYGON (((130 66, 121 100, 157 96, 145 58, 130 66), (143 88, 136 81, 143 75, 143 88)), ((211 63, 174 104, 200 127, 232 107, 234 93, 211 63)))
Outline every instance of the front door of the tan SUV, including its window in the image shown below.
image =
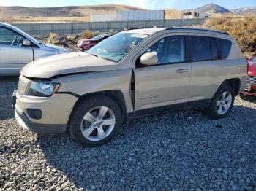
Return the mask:
POLYGON ((143 66, 137 61, 134 69, 135 114, 184 107, 190 79, 185 44, 184 36, 167 36, 146 50, 157 52, 157 65, 143 66))

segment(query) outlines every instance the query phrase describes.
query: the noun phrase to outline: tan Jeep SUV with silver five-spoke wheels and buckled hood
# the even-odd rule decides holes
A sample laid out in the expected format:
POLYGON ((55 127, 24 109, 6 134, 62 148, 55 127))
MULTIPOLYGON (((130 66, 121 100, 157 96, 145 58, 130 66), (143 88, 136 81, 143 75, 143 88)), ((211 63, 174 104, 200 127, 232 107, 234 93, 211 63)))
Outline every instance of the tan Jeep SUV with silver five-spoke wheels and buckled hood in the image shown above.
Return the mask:
POLYGON ((83 146, 105 144, 134 117, 203 107, 225 117, 246 87, 246 59, 220 31, 123 31, 88 52, 42 58, 21 71, 15 117, 37 133, 64 133, 83 146))

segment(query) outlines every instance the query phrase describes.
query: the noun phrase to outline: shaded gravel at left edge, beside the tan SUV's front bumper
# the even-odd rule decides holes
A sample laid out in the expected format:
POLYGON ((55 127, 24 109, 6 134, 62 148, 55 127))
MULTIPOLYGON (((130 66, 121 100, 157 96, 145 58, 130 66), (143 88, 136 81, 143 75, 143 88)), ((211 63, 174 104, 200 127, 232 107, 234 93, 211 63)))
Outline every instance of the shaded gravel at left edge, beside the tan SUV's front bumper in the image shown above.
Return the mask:
POLYGON ((18 86, 18 77, 0 77, 0 120, 14 117, 12 93, 18 86))

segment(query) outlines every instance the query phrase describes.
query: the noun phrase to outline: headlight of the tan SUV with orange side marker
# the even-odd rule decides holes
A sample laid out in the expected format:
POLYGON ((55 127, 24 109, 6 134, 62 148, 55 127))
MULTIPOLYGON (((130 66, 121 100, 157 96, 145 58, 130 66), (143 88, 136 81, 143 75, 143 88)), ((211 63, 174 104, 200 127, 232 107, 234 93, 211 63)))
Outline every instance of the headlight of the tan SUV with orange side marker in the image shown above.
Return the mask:
POLYGON ((31 96, 50 96, 57 92, 59 83, 48 81, 33 81, 29 87, 28 95, 31 96))

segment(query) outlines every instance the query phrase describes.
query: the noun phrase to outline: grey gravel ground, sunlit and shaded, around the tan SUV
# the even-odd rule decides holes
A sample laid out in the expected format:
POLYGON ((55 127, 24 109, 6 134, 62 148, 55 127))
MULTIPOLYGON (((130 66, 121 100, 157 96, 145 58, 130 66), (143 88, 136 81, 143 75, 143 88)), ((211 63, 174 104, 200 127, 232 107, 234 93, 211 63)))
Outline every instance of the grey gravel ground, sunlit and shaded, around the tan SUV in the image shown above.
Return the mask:
POLYGON ((256 99, 133 120, 102 147, 42 136, 13 119, 17 78, 0 79, 0 190, 256 190, 256 99))

